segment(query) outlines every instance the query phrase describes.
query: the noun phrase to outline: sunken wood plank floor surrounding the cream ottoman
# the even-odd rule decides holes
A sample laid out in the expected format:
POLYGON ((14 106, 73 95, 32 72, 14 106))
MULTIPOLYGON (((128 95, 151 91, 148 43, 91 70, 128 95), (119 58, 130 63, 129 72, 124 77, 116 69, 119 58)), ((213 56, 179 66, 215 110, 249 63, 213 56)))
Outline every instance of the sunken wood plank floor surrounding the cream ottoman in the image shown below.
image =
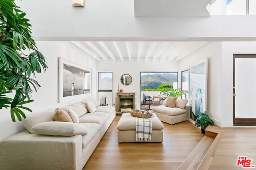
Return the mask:
POLYGON ((204 135, 190 121, 164 124, 163 143, 118 143, 116 116, 83 170, 176 170, 204 135))

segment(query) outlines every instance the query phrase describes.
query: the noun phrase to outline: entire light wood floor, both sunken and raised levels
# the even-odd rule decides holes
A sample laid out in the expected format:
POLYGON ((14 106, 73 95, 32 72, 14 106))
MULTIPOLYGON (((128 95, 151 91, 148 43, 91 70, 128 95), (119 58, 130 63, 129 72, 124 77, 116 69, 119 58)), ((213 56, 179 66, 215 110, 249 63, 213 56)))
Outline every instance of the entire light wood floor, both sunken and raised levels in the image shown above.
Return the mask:
MULTIPOLYGON (((175 125, 163 123, 163 143, 118 143, 119 119, 120 116, 116 116, 83 170, 176 170, 204 137, 198 127, 185 121, 175 125)), ((247 156, 252 159, 251 165, 256 165, 256 127, 215 125, 212 130, 222 133, 222 138, 212 148, 214 154, 209 156, 208 169, 244 169, 236 166, 238 156, 247 156)))

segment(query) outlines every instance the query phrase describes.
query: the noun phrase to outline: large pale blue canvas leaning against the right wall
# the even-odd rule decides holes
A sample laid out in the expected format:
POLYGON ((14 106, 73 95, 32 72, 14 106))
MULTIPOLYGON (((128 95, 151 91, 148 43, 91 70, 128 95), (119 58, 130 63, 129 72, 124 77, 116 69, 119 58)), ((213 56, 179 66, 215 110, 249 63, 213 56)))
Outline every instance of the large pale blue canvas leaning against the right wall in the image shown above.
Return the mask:
POLYGON ((189 103, 190 119, 196 120, 200 113, 206 111, 208 59, 190 65, 189 69, 189 103))

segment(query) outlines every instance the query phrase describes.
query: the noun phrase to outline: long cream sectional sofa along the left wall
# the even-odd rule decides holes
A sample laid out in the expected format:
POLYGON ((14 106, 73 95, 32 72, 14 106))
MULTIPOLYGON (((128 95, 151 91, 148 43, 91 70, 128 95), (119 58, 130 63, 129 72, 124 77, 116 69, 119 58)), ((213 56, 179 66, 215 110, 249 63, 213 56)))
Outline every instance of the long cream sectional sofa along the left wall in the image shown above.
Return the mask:
POLYGON ((55 121, 55 109, 27 115, 26 130, 0 142, 0 169, 81 170, 114 120, 115 107, 87 99, 62 109, 72 109, 79 123, 55 121), (94 113, 86 102, 94 103, 94 113))

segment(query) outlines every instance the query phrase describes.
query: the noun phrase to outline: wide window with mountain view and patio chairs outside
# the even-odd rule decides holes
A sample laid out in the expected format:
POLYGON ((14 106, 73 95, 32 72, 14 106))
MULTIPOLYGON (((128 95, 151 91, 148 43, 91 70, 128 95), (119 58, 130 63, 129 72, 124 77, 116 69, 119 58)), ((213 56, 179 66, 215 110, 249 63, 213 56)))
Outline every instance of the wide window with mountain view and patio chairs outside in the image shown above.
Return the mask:
POLYGON ((178 72, 140 72, 141 108, 160 106, 166 98, 164 87, 178 88, 178 72))

